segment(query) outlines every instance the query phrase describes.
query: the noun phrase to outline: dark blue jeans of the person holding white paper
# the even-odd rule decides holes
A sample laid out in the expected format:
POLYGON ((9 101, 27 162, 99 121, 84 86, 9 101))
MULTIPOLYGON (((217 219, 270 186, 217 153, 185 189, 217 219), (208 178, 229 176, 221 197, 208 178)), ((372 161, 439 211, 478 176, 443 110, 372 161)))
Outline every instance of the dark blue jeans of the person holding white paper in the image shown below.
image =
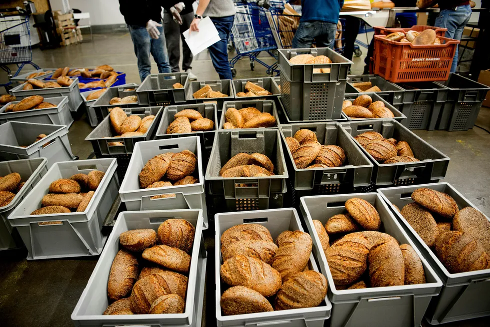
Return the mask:
POLYGON ((216 27, 219 38, 221 40, 217 41, 207 49, 211 56, 212 65, 219 75, 219 79, 232 79, 231 69, 228 63, 228 38, 229 32, 231 31, 231 26, 233 25, 233 20, 235 16, 226 17, 209 17, 211 18, 214 27, 216 27))

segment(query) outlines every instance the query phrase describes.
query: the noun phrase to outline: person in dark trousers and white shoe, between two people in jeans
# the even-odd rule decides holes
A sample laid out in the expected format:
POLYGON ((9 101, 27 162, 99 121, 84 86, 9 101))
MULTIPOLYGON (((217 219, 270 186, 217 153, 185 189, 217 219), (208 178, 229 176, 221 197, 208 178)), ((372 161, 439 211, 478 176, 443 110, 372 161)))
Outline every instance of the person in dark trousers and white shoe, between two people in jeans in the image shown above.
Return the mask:
MULTIPOLYGON (((165 1, 170 2, 171 1, 165 1)), ((182 70, 187 72, 190 80, 197 77, 192 73, 192 52, 190 51, 183 32, 189 29, 194 18, 192 3, 194 0, 184 0, 174 5, 166 4, 163 13, 163 30, 165 31, 166 49, 172 72, 179 72, 178 62, 180 60, 180 39, 182 39, 182 70)))

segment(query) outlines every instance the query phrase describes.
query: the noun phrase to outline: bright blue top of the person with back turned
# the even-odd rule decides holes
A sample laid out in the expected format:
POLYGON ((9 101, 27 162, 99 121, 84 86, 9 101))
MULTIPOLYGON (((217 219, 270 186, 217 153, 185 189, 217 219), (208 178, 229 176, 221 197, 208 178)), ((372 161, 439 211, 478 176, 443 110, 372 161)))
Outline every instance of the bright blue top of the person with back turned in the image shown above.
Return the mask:
POLYGON ((326 21, 336 24, 343 0, 301 0, 299 21, 326 21))

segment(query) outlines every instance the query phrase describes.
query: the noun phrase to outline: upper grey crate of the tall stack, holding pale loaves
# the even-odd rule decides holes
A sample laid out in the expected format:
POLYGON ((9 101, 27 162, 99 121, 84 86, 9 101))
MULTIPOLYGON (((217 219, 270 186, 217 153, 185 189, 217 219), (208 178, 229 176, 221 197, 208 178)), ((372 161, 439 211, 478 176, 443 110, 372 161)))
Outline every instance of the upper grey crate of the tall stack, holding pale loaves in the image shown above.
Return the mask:
MULTIPOLYGON (((279 49, 277 64, 281 70, 281 76, 291 82, 336 82, 347 80, 347 74, 352 61, 336 53, 330 48, 308 49, 279 49), (293 65, 289 59, 298 54, 311 54, 313 56, 325 55, 332 63, 293 65), (314 68, 329 68, 329 73, 313 73, 314 68)), ((282 80, 282 79, 281 79, 282 80)), ((281 82, 282 84, 282 82, 281 82)))

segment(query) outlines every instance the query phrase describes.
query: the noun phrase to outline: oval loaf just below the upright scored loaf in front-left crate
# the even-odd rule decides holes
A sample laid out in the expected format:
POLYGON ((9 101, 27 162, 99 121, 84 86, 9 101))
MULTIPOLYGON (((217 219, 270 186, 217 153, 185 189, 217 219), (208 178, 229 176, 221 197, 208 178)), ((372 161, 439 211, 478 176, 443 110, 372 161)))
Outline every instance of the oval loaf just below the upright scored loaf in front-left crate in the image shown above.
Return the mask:
POLYGON ((180 249, 166 245, 155 245, 145 249, 143 259, 179 273, 187 273, 190 267, 190 256, 180 249))

